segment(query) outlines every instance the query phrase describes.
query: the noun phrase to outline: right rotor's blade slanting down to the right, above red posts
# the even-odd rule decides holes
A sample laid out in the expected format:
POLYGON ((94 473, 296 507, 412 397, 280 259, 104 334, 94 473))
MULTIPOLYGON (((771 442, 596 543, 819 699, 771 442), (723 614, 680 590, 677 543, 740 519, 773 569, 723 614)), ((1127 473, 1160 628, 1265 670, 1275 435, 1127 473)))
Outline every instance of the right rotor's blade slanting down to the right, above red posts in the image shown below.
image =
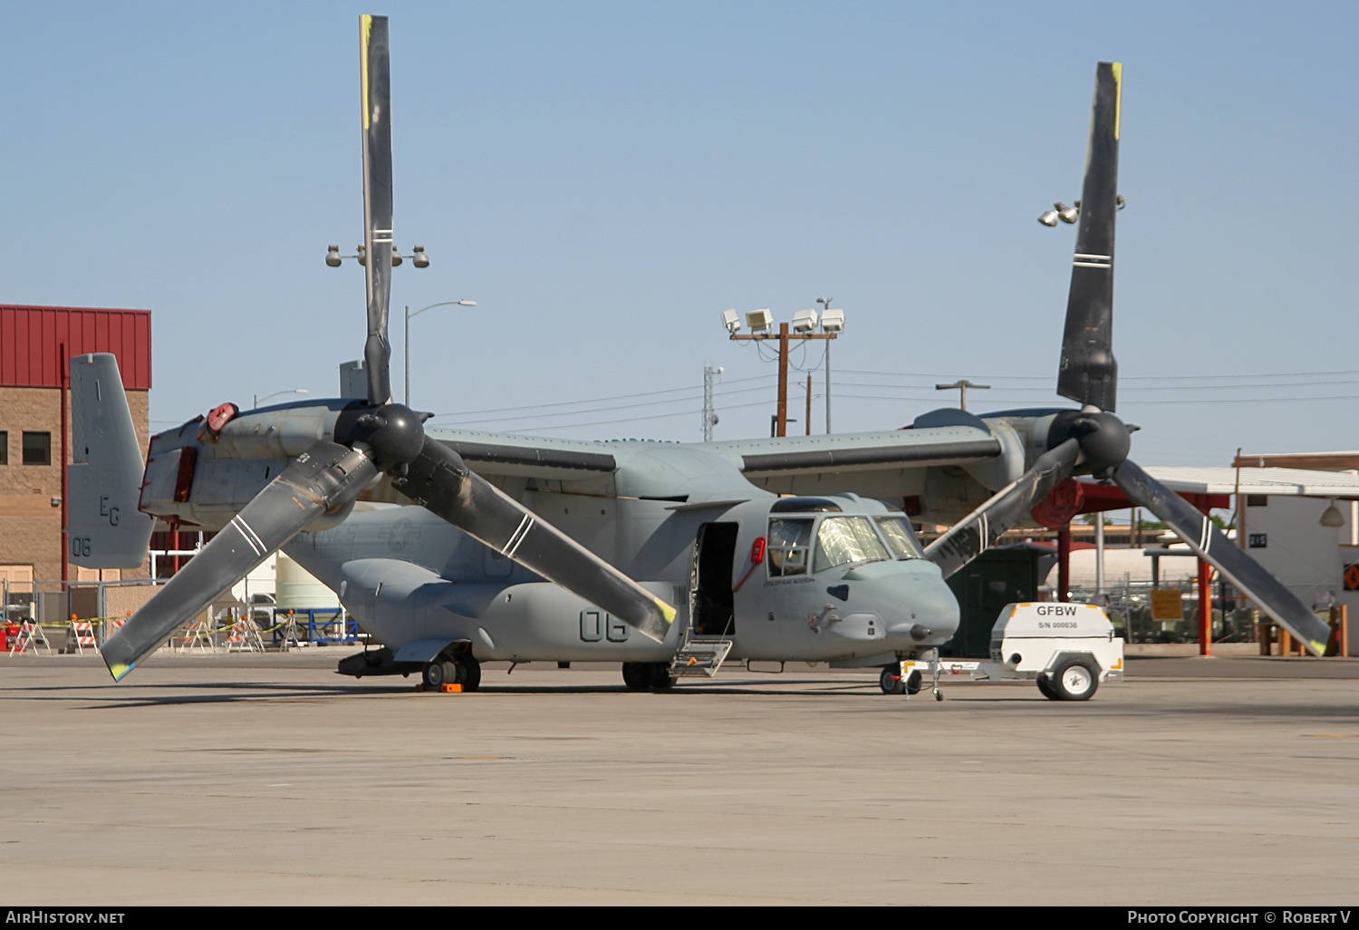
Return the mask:
POLYGON ((1125 460, 1114 469, 1118 483, 1133 503, 1146 507, 1184 540, 1196 555, 1212 563, 1242 594, 1260 605, 1275 621, 1307 644, 1317 655, 1326 651, 1330 627, 1284 587, 1277 578, 1261 567, 1231 540, 1223 536, 1212 521, 1199 513, 1188 500, 1161 484, 1136 462, 1125 460))

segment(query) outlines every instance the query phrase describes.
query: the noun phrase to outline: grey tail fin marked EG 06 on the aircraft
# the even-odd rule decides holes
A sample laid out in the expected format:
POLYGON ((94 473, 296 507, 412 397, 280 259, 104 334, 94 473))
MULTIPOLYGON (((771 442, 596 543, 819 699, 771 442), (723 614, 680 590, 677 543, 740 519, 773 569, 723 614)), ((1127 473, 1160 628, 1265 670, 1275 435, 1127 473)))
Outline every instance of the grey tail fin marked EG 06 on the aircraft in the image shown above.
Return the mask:
POLYGON ((110 352, 71 359, 72 464, 67 466, 71 562, 87 568, 139 568, 155 519, 137 510, 143 457, 110 352))

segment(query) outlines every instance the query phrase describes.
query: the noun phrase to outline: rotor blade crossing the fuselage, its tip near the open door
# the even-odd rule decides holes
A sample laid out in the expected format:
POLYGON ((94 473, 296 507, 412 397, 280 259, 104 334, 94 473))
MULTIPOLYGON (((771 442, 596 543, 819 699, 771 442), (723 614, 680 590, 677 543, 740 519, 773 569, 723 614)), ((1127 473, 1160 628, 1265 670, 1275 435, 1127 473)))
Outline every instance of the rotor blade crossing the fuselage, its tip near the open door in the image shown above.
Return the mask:
POLYGON ((658 642, 674 621, 673 606, 472 472, 436 439, 425 438, 398 487, 467 536, 658 642))

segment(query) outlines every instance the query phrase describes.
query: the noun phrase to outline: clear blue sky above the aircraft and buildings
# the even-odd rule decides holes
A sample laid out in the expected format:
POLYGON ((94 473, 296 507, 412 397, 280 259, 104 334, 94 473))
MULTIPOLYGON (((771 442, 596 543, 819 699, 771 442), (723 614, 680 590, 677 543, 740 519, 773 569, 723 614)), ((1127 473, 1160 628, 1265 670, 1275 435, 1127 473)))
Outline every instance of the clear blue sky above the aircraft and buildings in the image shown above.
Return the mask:
MULTIPOLYGON (((719 314, 833 296, 837 432, 1052 405, 1095 63, 1144 465, 1356 449, 1359 4, 5 3, 0 300, 154 311, 154 428, 361 355, 357 18, 391 16, 394 273, 436 424, 768 435, 719 314), (550 407, 549 407, 550 405, 550 407)), ((795 354, 802 367, 821 347, 795 354)), ((791 392, 802 419, 806 374, 791 392)), ((825 431, 824 371, 813 430, 825 431)), ((279 400, 288 400, 283 397, 279 400)), ((792 430, 802 431, 803 424, 792 430)))

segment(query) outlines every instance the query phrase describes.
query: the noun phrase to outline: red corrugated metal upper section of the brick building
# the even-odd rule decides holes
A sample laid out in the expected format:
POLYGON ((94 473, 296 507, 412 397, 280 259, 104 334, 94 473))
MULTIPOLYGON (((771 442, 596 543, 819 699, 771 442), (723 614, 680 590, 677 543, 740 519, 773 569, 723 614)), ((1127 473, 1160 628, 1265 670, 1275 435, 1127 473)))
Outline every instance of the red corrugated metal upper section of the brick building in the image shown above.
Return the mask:
POLYGON ((0 386, 60 388, 61 347, 118 356, 122 386, 151 390, 151 311, 0 306, 0 386))

